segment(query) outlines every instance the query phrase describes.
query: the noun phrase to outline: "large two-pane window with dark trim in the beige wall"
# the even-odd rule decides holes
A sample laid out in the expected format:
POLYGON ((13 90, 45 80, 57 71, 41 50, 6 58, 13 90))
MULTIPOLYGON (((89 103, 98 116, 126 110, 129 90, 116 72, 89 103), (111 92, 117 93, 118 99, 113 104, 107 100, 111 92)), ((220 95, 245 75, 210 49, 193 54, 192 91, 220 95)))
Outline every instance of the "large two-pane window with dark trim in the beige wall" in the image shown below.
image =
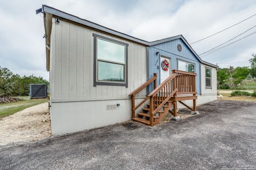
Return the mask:
POLYGON ((128 84, 128 44, 93 33, 93 86, 126 86, 128 84))

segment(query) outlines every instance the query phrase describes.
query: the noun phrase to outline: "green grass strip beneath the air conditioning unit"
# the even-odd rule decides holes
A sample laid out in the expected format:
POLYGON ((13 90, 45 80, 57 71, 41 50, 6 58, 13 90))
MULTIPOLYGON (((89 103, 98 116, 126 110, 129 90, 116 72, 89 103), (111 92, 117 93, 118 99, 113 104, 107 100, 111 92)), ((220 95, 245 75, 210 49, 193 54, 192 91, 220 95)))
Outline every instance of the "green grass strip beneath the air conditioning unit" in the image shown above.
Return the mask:
POLYGON ((0 117, 9 116, 28 107, 39 105, 48 101, 47 98, 30 99, 29 96, 21 96, 19 98, 20 101, 18 102, 0 104, 0 117))

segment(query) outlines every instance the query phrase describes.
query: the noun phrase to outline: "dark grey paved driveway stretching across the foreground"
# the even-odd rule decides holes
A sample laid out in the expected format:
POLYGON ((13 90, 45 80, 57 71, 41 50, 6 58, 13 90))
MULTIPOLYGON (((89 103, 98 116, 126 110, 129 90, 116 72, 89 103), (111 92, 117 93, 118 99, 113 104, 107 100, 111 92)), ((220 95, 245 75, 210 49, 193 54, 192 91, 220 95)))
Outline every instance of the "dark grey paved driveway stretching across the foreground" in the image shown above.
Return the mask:
POLYGON ((256 103, 197 109, 153 128, 124 123, 0 147, 0 169, 256 169, 256 103))

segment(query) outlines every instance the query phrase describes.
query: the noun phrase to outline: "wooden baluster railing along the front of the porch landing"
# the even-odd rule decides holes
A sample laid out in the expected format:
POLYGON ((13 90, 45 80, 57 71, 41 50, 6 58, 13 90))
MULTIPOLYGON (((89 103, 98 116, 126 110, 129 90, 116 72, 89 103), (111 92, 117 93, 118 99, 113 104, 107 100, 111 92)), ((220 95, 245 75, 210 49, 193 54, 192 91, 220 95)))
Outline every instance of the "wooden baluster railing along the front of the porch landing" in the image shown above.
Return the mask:
POLYGON ((173 70, 176 73, 177 94, 196 94, 196 73, 173 70))

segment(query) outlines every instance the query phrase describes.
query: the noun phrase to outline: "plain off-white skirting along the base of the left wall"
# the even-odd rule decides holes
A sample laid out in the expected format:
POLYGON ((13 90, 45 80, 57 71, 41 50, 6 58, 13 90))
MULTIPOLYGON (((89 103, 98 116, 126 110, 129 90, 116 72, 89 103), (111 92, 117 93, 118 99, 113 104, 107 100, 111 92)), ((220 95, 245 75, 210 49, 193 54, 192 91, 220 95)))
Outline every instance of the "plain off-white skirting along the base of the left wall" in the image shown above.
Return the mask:
MULTIPOLYGON (((142 100, 137 99, 136 103, 142 100)), ((82 131, 130 119, 130 99, 57 102, 51 104, 52 134, 82 131), (112 110, 107 109, 108 105, 116 104, 120 104, 120 106, 116 106, 112 110)))

